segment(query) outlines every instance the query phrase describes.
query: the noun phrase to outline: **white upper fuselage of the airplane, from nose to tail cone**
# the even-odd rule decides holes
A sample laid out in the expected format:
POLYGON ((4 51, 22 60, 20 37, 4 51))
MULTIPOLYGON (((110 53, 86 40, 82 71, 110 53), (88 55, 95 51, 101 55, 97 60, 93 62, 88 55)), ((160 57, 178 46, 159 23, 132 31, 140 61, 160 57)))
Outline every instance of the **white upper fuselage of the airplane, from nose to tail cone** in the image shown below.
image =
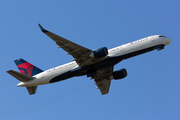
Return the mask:
MULTIPOLYGON (((144 50, 153 46, 157 45, 168 45, 171 42, 171 39, 166 37, 159 37, 159 35, 149 36, 134 42, 130 42, 112 49, 108 50, 108 56, 109 57, 117 57, 117 56, 123 56, 129 53, 133 53, 136 51, 144 50)), ((27 87, 27 86, 37 86, 37 85, 43 85, 43 84, 49 84, 49 81, 63 73, 66 73, 70 70, 73 70, 75 68, 79 67, 78 64, 74 62, 70 62, 49 70, 46 70, 42 73, 39 73, 33 77, 35 79, 28 81, 28 82, 21 82, 17 86, 27 87)))

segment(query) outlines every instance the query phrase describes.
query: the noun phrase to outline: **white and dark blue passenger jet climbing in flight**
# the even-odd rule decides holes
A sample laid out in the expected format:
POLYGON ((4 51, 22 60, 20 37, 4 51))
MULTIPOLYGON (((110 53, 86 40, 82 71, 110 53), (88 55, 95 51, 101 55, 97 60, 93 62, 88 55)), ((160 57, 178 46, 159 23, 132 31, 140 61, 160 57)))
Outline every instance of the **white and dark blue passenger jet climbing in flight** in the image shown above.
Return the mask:
POLYGON ((122 60, 150 52, 162 50, 171 43, 171 39, 163 35, 153 35, 121 46, 107 49, 101 47, 90 50, 63 37, 60 37, 38 24, 41 31, 56 42, 74 58, 72 62, 43 71, 22 58, 15 60, 20 72, 8 70, 7 73, 20 81, 17 86, 26 87, 29 94, 36 93, 38 85, 63 81, 72 77, 86 75, 94 79, 102 95, 109 92, 111 80, 120 80, 127 76, 125 68, 113 70, 114 65, 122 60))

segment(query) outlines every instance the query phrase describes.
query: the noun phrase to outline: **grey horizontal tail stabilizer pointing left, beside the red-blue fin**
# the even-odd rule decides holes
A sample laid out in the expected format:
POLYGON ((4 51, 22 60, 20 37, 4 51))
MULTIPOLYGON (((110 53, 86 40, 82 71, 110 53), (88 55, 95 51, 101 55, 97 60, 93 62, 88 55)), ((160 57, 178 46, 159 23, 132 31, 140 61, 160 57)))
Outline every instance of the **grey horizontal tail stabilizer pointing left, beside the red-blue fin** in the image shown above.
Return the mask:
POLYGON ((16 79, 18 79, 21 82, 27 82, 27 81, 34 79, 34 77, 31 77, 31 76, 23 74, 23 73, 16 72, 14 70, 9 70, 9 71, 7 71, 7 73, 9 73, 10 75, 12 75, 13 77, 15 77, 16 79))

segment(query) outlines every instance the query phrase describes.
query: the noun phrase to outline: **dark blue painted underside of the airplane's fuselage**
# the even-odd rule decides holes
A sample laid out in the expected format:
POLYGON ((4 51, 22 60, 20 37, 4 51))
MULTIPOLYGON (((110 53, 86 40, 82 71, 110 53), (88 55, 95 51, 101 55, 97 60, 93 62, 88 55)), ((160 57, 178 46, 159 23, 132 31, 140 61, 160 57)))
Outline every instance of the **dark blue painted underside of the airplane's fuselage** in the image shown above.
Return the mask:
POLYGON ((58 82, 58 81, 63 81, 66 80, 68 78, 71 77, 75 77, 75 76, 81 76, 81 75, 87 75, 87 77, 90 77, 91 74, 94 74, 97 70, 101 70, 107 67, 111 67, 116 65, 117 63, 119 63, 120 61, 124 60, 124 59, 128 59, 146 52, 150 52, 153 51, 155 49, 158 49, 159 46, 163 46, 163 45, 157 45, 157 46, 153 46, 150 48, 146 48, 143 50, 139 50, 139 51, 135 51, 129 54, 125 54, 122 56, 117 56, 117 57, 109 57, 101 62, 92 64, 90 66, 86 66, 86 67, 82 67, 82 68, 75 68, 71 71, 68 71, 64 74, 58 75, 54 78, 52 78, 49 82, 50 83, 54 83, 54 82, 58 82))

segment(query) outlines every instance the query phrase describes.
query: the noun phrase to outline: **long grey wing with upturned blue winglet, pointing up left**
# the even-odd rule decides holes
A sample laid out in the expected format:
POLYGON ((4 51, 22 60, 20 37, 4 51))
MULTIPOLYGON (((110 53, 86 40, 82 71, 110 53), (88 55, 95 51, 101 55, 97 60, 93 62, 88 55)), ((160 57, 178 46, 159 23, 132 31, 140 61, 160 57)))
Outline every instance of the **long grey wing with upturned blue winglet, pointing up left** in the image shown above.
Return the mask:
POLYGON ((73 60, 77 62, 77 64, 80 67, 84 67, 87 65, 92 64, 91 61, 89 61, 89 55, 91 54, 92 50, 87 49, 83 46, 80 46, 76 43, 73 43, 63 37, 60 37, 50 31, 45 30, 40 24, 38 24, 41 31, 45 33, 47 36, 49 36, 52 40, 56 42, 56 44, 59 46, 59 48, 62 48, 67 53, 74 57, 73 60))

